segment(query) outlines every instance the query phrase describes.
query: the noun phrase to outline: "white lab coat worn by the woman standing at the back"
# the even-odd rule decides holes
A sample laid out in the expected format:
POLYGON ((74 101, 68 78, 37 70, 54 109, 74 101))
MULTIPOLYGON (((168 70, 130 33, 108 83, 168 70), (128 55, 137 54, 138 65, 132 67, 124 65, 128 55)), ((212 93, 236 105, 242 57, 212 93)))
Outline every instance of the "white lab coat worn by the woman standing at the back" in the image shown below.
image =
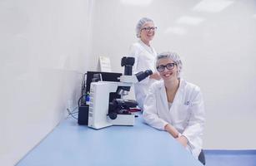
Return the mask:
MULTIPOLYGON (((146 71, 148 69, 155 72, 157 52, 153 49, 152 46, 147 46, 143 43, 143 41, 139 40, 130 46, 128 56, 135 58, 133 74, 136 74, 139 71, 146 71)), ((143 102, 148 93, 148 88, 153 84, 154 81, 155 80, 149 79, 149 77, 147 77, 145 80, 140 81, 134 85, 135 97, 138 102, 138 106, 141 109, 143 109, 143 102)))

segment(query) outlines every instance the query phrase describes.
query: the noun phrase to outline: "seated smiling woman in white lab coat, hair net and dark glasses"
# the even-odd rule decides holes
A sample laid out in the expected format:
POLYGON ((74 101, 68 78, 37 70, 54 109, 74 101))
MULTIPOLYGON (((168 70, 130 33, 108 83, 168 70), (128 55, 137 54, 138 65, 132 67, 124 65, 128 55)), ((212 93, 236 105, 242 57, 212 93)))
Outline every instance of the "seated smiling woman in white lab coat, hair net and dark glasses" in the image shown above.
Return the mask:
POLYGON ((148 125, 166 130, 198 159, 205 121, 201 90, 180 78, 183 64, 178 54, 159 54, 156 66, 163 81, 150 86, 143 118, 148 125))

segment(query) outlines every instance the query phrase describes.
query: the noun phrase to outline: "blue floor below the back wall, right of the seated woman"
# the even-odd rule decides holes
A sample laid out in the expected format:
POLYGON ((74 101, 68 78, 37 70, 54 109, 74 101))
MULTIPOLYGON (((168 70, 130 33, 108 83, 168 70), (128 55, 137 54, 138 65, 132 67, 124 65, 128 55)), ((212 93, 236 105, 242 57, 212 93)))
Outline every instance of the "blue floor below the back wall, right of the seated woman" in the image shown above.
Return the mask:
POLYGON ((207 166, 256 166, 256 150, 204 150, 207 166))

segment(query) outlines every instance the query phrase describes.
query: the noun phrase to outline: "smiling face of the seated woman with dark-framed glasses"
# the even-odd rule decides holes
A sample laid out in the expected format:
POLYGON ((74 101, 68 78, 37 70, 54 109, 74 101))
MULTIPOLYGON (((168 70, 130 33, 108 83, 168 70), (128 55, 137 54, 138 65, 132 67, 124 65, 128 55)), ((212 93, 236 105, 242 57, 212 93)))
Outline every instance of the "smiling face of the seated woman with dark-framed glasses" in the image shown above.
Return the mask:
POLYGON ((159 72, 160 76, 163 78, 163 81, 175 81, 178 80, 178 69, 177 65, 173 66, 173 69, 167 69, 167 64, 175 62, 169 58, 163 58, 158 60, 158 66, 164 66, 164 70, 159 72))

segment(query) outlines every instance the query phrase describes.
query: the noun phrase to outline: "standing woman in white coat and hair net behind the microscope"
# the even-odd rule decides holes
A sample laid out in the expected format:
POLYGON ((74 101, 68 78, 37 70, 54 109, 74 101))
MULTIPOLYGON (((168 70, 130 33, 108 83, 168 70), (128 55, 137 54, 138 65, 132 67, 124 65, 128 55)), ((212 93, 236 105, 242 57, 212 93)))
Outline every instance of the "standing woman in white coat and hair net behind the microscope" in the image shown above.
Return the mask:
POLYGON ((160 79, 158 72, 155 72, 155 60, 157 52, 151 46, 157 27, 154 26, 153 20, 143 17, 138 21, 136 26, 136 35, 139 40, 133 43, 129 48, 128 56, 133 56, 135 62, 133 65, 133 74, 148 69, 153 71, 153 75, 134 85, 135 97, 138 106, 143 110, 143 101, 148 93, 148 88, 156 80, 160 79))

